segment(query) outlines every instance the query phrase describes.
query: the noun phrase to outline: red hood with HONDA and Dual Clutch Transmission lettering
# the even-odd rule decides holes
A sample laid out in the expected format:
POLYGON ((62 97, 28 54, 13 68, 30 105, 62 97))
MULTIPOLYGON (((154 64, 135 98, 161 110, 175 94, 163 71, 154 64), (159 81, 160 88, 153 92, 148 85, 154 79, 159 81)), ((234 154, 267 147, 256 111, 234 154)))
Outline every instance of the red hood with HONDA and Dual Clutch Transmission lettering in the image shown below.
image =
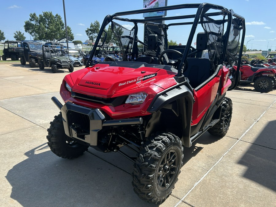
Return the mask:
MULTIPOLYGON (((130 68, 97 64, 94 67, 71 73, 74 82, 72 90, 87 95, 98 94, 98 96, 110 97, 115 93, 150 84, 160 87, 171 85, 168 78, 174 75, 175 73, 171 71, 154 67, 130 68), (165 82, 164 79, 166 79, 165 82), (164 83, 157 83, 160 80, 163 80, 164 83)), ((173 83, 175 84, 175 81, 173 83)))

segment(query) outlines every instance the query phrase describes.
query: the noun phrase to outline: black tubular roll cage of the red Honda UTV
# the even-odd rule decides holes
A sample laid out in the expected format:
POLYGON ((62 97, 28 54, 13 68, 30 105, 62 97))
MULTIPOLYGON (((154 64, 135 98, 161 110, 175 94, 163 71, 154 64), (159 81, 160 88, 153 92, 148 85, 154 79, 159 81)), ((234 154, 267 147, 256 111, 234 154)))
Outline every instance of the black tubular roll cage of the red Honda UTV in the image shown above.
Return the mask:
MULTIPOLYGON (((113 15, 107 15, 102 23, 102 26, 100 28, 99 31, 99 35, 97 36, 96 40, 95 40, 95 45, 92 48, 91 52, 90 52, 90 57, 86 63, 86 67, 89 67, 91 60, 95 54, 97 45, 101 39, 102 33, 105 32, 105 27, 113 20, 120 20, 120 21, 127 21, 127 22, 133 22, 133 23, 147 23, 147 24, 153 24, 153 25, 160 25, 159 23, 156 23, 155 21, 163 21, 163 20, 177 20, 177 19, 189 19, 189 18, 194 18, 193 22, 184 22, 184 23, 172 23, 172 24, 168 24, 166 25, 166 27, 168 28, 169 26, 172 25, 192 25, 191 31, 190 31, 190 35, 189 38, 187 40, 187 44, 186 45, 192 45, 192 41, 193 41, 193 37, 197 28, 198 24, 201 24, 200 22, 200 18, 201 16, 205 14, 207 17, 211 17, 211 16, 218 16, 218 15, 224 15, 224 16, 228 16, 227 20, 220 20, 220 21, 224 21, 224 22, 228 22, 227 25, 227 29, 226 32, 224 33, 224 35, 227 37, 227 40, 229 39, 229 35, 230 35, 230 27, 232 24, 232 19, 233 17, 238 18, 241 22, 242 22, 242 37, 241 37, 241 43, 240 45, 243 45, 244 43, 244 37, 245 37, 245 20, 244 17, 234 13, 234 11, 232 9, 226 9, 223 6, 219 6, 219 5, 215 5, 215 4, 209 4, 209 3, 201 3, 201 4, 180 4, 180 5, 174 5, 174 6, 163 6, 163 7, 159 7, 159 8, 151 8, 151 9, 141 9, 141 10, 132 10, 132 11, 126 11, 126 12, 117 12, 114 13, 113 15), (155 17, 155 18, 147 18, 147 19, 129 19, 129 18, 123 18, 120 16, 125 16, 125 15, 132 15, 132 14, 140 14, 140 13, 149 13, 149 12, 157 12, 157 11, 164 11, 164 10, 179 10, 179 9, 197 9, 196 14, 193 15, 183 15, 183 16, 171 16, 171 17, 155 17), (208 10, 210 9, 215 9, 215 10, 220 10, 219 12, 212 12, 212 13, 207 13, 208 10)), ((105 32, 106 33, 106 32, 105 32)), ((105 36, 106 37, 106 36, 105 36)), ((137 36, 135 36, 135 38, 137 38, 137 36)), ((140 42, 140 40, 137 39, 137 42, 140 42)), ((144 43, 143 43, 144 44, 144 43)), ((180 66, 178 67, 178 74, 177 76, 180 77, 182 76, 182 69, 184 68, 184 63, 188 57, 188 53, 189 53, 189 47, 186 47, 182 56, 182 60, 180 63, 180 66)), ((237 61, 237 74, 240 71, 240 61, 241 61, 241 56, 242 56, 242 47, 240 47, 240 51, 239 51, 239 58, 237 61)), ((225 59, 225 55, 226 55, 226 50, 227 50, 227 46, 223 47, 223 51, 222 54, 222 58, 220 60, 220 64, 223 64, 223 61, 225 59)), ((235 88, 238 84, 238 79, 235 79, 235 85, 232 87, 235 88)))

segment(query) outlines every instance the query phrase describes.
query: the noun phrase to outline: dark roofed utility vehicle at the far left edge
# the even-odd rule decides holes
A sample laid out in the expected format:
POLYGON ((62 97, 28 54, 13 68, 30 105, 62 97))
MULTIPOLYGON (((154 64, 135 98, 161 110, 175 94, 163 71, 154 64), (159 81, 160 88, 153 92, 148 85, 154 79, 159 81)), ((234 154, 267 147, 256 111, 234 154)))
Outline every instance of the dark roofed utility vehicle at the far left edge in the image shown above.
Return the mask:
POLYGON ((19 51, 20 41, 5 41, 2 60, 10 58, 11 60, 19 60, 19 51))

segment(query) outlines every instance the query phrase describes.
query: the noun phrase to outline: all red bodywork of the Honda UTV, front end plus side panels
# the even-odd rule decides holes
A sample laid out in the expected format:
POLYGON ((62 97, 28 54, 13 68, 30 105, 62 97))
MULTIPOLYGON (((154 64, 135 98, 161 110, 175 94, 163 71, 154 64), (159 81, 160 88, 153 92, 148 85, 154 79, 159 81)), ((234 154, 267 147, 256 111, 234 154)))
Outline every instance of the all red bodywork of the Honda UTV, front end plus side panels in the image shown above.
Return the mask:
MULTIPOLYGON (((136 116, 145 116, 149 105, 156 94, 176 85, 174 76, 176 74, 159 68, 140 67, 137 69, 127 67, 110 67, 108 64, 97 64, 66 75, 60 88, 60 95, 64 102, 72 102, 89 108, 98 108, 107 113, 113 119, 123 119, 136 116), (119 106, 104 105, 72 98, 71 92, 65 87, 65 82, 71 86, 72 91, 89 96, 101 98, 114 98, 128 96, 139 92, 148 94, 142 104, 122 104, 119 106)), ((208 84, 198 90, 194 90, 194 106, 192 113, 192 124, 196 125, 204 116, 213 100, 215 99, 221 82, 221 94, 225 93, 231 85, 228 77, 228 69, 223 67, 218 75, 208 84)))

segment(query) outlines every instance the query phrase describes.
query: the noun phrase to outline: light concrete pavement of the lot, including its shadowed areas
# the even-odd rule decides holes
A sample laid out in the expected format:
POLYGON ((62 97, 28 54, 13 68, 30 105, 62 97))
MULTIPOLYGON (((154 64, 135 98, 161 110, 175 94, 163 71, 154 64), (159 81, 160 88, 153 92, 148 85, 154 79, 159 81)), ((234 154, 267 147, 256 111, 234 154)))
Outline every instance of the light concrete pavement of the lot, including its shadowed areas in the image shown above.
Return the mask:
MULTIPOLYGON (((82 67, 75 67, 79 70, 82 67)), ((155 206, 132 190, 132 163, 90 148, 78 159, 54 155, 47 128, 59 109, 51 97, 67 70, 0 64, 1 206, 155 206)), ((227 92, 229 131, 208 132, 184 148, 184 166, 160 206, 276 206, 276 90, 252 86, 227 92)))

